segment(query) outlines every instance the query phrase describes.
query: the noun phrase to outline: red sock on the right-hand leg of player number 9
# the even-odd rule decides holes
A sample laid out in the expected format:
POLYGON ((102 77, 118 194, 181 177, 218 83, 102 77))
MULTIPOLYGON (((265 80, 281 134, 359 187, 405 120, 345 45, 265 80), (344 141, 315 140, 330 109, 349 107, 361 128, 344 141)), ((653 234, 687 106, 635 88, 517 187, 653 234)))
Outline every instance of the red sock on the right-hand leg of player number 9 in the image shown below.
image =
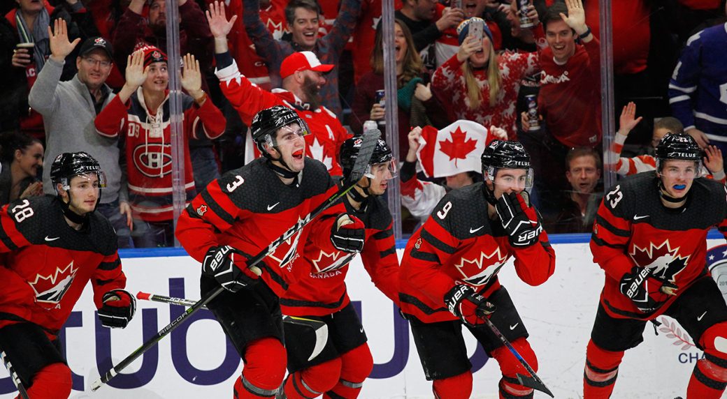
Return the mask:
MULTIPOLYGON (((535 352, 530 347, 528 340, 525 338, 518 338, 513 342, 510 342, 515 350, 520 353, 533 371, 538 370, 538 359, 535 356, 535 352)), ((493 350, 491 357, 497 360, 499 363, 500 371, 502 372, 502 379, 499 382, 499 391, 501 398, 529 398, 533 395, 533 389, 529 387, 523 387, 518 380, 517 374, 523 376, 529 376, 530 372, 523 366, 520 361, 510 353, 510 349, 506 346, 498 347, 493 350)))

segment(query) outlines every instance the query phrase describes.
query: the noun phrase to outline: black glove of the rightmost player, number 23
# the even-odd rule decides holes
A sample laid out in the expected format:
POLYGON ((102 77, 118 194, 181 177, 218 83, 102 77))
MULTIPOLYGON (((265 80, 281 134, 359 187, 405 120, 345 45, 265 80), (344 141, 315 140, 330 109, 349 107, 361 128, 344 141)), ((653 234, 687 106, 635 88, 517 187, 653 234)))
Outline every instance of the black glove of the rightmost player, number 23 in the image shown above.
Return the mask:
POLYGON ((651 276, 651 269, 634 266, 621 278, 619 290, 633 301, 638 310, 651 313, 664 303, 667 295, 675 295, 677 287, 651 276))

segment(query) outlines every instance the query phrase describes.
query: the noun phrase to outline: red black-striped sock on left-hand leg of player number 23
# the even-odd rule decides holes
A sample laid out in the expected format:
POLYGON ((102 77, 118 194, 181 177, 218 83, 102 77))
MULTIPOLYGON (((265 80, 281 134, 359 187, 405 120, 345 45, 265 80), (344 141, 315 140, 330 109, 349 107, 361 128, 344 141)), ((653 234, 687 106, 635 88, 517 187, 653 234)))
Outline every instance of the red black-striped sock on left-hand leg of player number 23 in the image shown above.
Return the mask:
POLYGON ((611 352, 601 349, 588 341, 586 348, 586 366, 583 371, 583 398, 606 399, 611 397, 619 375, 619 364, 624 352, 611 352))

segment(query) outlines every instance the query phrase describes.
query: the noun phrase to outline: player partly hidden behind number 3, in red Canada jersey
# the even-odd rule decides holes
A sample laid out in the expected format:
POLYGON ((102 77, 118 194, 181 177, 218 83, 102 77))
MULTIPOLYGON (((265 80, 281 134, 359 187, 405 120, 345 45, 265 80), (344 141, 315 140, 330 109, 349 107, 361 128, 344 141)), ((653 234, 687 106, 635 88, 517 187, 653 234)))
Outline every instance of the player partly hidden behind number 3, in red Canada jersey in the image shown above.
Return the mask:
MULTIPOLYGON (((340 162, 348 176, 356 161, 361 139, 343 142, 340 162)), ((366 229, 361 260, 374 284, 398 305, 399 263, 396 256, 393 218, 386 202, 387 181, 395 177, 395 160, 386 142, 379 139, 366 176, 342 199, 346 211, 366 229)), ((305 327, 285 324, 289 376, 284 384, 288 399, 356 398, 374 366, 366 334, 346 292, 348 263, 356 254, 337 250, 330 242, 309 242, 300 265, 305 274, 281 297, 281 309, 289 316, 324 321, 329 340, 323 351, 309 359, 314 349, 305 327)))

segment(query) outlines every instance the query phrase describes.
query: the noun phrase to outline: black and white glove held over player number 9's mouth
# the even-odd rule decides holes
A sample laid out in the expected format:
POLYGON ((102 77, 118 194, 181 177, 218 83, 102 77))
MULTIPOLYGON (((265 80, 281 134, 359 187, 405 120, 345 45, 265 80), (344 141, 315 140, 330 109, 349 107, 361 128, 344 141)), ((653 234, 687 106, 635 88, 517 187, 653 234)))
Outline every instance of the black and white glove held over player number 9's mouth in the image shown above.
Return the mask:
POLYGON ((530 247, 538 242, 542 226, 534 207, 525 203, 522 195, 503 193, 495 205, 502 227, 509 235, 510 245, 530 247))

